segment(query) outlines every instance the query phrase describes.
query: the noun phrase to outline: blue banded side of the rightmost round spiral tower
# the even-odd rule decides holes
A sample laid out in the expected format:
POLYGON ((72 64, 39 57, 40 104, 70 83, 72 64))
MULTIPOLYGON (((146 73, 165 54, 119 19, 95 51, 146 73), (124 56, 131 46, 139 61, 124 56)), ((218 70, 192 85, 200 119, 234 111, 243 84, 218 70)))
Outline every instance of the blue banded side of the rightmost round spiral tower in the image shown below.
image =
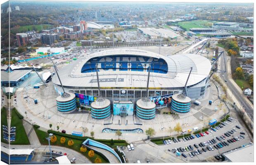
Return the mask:
POLYGON ((171 111, 176 113, 188 113, 190 111, 191 103, 181 103, 172 99, 171 101, 171 111))

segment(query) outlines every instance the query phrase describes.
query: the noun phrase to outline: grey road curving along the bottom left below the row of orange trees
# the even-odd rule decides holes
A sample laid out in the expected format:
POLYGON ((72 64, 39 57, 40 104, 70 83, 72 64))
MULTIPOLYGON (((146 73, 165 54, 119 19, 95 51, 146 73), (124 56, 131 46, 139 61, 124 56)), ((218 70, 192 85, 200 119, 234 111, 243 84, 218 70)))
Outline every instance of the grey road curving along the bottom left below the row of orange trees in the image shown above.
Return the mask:
MULTIPOLYGON (((1 146, 5 146, 6 148, 9 148, 8 144, 1 143, 1 146)), ((15 148, 15 149, 34 149, 35 151, 46 151, 49 152, 49 146, 43 146, 43 145, 11 145, 10 148, 15 148)), ((69 159, 76 158, 76 163, 91 163, 88 158, 83 156, 83 154, 78 153, 72 149, 61 147, 61 146, 51 146, 52 151, 54 152, 62 152, 67 153, 67 157, 69 159)))

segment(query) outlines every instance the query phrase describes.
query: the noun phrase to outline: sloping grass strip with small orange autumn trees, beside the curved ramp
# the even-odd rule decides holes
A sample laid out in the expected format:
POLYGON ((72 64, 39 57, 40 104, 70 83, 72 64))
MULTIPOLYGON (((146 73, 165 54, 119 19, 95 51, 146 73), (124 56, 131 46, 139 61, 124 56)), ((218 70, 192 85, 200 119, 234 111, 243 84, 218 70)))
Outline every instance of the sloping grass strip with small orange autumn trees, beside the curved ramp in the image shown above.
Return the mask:
MULTIPOLYGON (((48 134, 47 132, 44 132, 42 130, 38 130, 36 128, 34 128, 34 130, 36 131, 36 135, 40 141, 40 143, 42 145, 48 145, 48 141, 45 139, 45 137, 48 137, 48 134)), ((66 141, 64 144, 61 144, 60 143, 60 138, 61 136, 59 135, 55 135, 57 137, 57 141, 55 143, 51 143, 51 145, 54 145, 54 146, 63 146, 63 147, 66 147, 66 148, 70 148, 70 149, 73 149, 81 154, 83 154, 86 158, 88 158, 92 163, 94 163, 94 160, 95 158, 100 158, 102 160, 102 163, 109 163, 107 160, 104 160, 100 155, 98 155, 97 153, 95 153, 94 157, 90 158, 88 156, 88 152, 90 150, 87 150, 85 153, 81 152, 80 151, 80 147, 81 147, 81 144, 83 143, 84 140, 77 140, 77 139, 72 139, 74 144, 73 146, 68 146, 68 141, 69 141, 69 138, 66 138, 66 141)))

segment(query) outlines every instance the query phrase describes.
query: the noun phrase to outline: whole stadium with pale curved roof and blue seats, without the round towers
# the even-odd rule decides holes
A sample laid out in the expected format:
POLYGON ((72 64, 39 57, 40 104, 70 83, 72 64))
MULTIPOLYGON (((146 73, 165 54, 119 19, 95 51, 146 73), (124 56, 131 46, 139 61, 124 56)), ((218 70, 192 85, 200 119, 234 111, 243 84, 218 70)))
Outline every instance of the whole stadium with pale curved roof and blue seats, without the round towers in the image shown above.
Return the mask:
MULTIPOLYGON (((134 106, 136 101, 146 96, 149 77, 148 97, 156 106, 170 102, 175 93, 184 90, 190 99, 200 99, 206 92, 211 63, 196 54, 175 54, 162 56, 136 49, 113 49, 95 52, 81 57, 59 69, 59 76, 65 92, 74 93, 81 106, 89 106, 99 96, 96 64, 99 73, 101 96, 116 101, 127 101, 134 106)), ((57 94, 63 93, 56 75, 53 76, 57 94)))

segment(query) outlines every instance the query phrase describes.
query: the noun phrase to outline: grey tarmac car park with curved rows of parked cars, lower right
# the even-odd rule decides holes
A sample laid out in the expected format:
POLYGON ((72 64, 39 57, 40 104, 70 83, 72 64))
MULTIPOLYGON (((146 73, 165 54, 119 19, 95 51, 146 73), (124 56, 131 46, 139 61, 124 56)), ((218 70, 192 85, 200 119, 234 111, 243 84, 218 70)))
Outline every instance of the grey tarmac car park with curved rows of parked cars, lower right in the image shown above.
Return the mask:
MULTIPOLYGON (((228 121, 227 121, 228 122, 228 121)), ((189 141, 183 141, 182 139, 181 139, 181 141, 180 142, 178 142, 178 143, 174 143, 173 141, 172 141, 172 144, 168 144, 168 145, 159 145, 159 146, 156 146, 155 148, 156 149, 159 149, 159 150, 162 150, 162 151, 165 151, 165 152, 168 152, 168 153, 170 153, 170 154, 172 154, 173 156, 175 156, 175 153, 173 153, 172 151, 168 151, 168 149, 173 149, 173 148, 179 148, 179 147, 185 147, 185 146, 189 146, 189 145, 191 145, 191 146, 193 146, 193 148, 195 149, 195 147, 194 147, 194 144, 199 144, 200 142, 204 142, 204 141, 209 141, 209 140, 211 140, 211 139, 216 139, 216 137, 220 137, 221 135, 224 135, 224 133, 225 132, 228 132, 229 130, 232 130, 232 128, 235 128, 235 125, 240 125, 241 126, 241 124, 239 124, 238 123, 238 121, 235 119, 235 120, 233 120, 231 123, 230 122, 228 122, 229 124, 228 125, 226 125, 226 126, 224 126, 223 128, 221 128, 220 130, 217 130, 216 132, 212 132, 212 133, 210 133, 209 132, 209 135, 206 135, 206 136, 204 136, 204 137, 199 137, 199 138, 197 138, 197 137, 195 137, 195 139, 193 139, 193 140, 189 140, 189 141)), ((230 137, 226 137, 226 139, 225 140, 223 140, 223 139, 221 139, 221 141, 226 141, 227 142, 227 140, 228 139, 231 139, 231 138, 233 138, 233 137, 238 137, 239 136, 239 134, 240 134, 240 132, 246 132, 244 129, 243 129, 243 127, 241 127, 241 129, 237 129, 238 131, 237 132, 235 132, 234 134, 232 134, 230 137)), ((210 146, 212 146, 213 147, 213 151, 208 151, 207 149, 206 149, 206 147, 203 147, 203 148, 205 148, 206 149, 206 152, 203 152, 202 154, 199 154, 199 155, 197 155, 197 156, 194 156, 193 158, 191 158, 189 155, 188 155, 188 153, 189 152, 191 152, 191 151, 185 151, 185 152, 183 152, 183 153, 185 153, 186 155, 187 155, 187 158, 184 158, 184 157, 182 157, 182 156, 180 156, 180 158, 182 158, 183 160, 187 160, 187 161, 190 161, 190 162, 201 162, 201 161, 203 161, 203 160, 205 160, 206 158, 209 158, 209 157, 212 157, 212 156, 216 156, 216 155, 218 155, 218 154, 220 154, 220 153, 224 153, 224 152, 226 152, 226 151, 230 151, 230 150, 232 150, 232 149, 234 149, 234 148, 237 148, 237 147, 239 147, 239 146, 242 146, 242 145, 244 145, 244 144, 249 144, 250 142, 251 142, 251 139, 250 139, 250 137, 248 136, 248 134, 246 133, 245 135, 244 135, 244 139, 240 139, 239 141, 237 141, 237 142, 235 142, 235 143, 232 143, 232 144, 229 144, 229 146, 224 146, 223 148, 220 148, 220 149, 216 149, 216 148, 214 148, 213 147, 213 145, 216 145, 216 144, 218 144, 220 141, 218 141, 217 139, 217 142, 218 143, 215 143, 215 144, 211 144, 210 146)), ((199 149, 201 150, 201 147, 199 147, 199 149)))

